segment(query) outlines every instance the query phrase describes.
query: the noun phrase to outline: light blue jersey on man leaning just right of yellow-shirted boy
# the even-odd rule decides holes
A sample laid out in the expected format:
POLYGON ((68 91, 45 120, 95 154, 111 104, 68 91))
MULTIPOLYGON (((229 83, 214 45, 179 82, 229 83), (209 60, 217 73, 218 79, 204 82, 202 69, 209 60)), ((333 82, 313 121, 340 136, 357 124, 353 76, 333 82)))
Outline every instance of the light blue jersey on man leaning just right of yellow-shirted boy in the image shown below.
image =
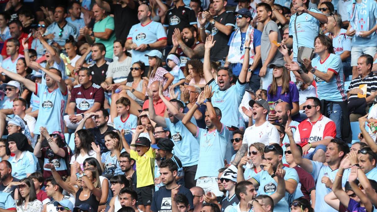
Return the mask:
MULTIPOLYGON (((191 117, 191 123, 196 124, 195 117, 191 117)), ((199 142, 184 126, 182 121, 172 123, 169 118, 165 118, 166 130, 170 131, 174 143, 173 154, 182 162, 182 166, 193 166, 198 164, 199 142)))

